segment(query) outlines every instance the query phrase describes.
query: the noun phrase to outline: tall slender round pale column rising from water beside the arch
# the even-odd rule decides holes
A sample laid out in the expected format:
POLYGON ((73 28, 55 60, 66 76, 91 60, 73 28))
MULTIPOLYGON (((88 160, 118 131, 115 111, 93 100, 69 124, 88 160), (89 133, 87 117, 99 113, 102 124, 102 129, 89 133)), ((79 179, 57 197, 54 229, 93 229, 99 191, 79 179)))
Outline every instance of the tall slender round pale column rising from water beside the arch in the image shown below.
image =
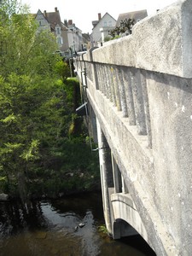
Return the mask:
POLYGON ((96 119, 97 125, 97 137, 98 137, 98 150, 99 150, 99 162, 102 182, 102 205, 105 218, 105 224, 110 236, 112 236, 112 222, 110 211, 110 198, 108 194, 108 143, 102 132, 99 120, 96 119))

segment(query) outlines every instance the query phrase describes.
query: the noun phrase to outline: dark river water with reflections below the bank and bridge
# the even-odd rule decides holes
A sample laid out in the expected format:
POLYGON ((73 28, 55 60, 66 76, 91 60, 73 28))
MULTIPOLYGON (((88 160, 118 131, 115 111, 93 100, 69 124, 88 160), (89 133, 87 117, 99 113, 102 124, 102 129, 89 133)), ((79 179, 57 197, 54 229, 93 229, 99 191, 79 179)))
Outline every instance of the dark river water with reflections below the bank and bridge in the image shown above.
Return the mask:
POLYGON ((0 203, 1 256, 155 255, 140 236, 113 241, 99 231, 104 224, 99 193, 34 201, 31 208, 0 203))

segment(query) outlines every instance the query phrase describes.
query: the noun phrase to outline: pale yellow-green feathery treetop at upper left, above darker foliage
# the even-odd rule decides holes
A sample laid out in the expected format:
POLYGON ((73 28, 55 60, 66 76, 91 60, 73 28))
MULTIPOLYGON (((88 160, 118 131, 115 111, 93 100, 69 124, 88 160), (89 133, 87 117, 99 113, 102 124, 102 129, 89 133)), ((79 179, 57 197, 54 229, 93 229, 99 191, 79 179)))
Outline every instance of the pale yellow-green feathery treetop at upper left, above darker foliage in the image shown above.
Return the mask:
POLYGON ((38 26, 25 6, 15 0, 0 5, 0 65, 3 77, 9 73, 43 75, 52 73, 59 56, 53 34, 37 32, 38 26), (11 8, 10 8, 11 6, 11 8))

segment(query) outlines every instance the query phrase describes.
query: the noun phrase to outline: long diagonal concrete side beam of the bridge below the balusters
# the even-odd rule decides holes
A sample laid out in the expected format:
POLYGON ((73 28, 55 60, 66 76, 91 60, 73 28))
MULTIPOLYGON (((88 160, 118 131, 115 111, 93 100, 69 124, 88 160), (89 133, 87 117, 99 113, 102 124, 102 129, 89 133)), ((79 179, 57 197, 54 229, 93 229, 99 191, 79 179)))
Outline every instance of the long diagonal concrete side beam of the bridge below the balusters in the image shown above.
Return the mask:
POLYGON ((122 113, 119 113, 99 90, 90 95, 94 88, 91 83, 89 88, 87 93, 90 104, 131 191, 131 197, 139 209, 139 215, 148 233, 148 244, 154 248, 157 255, 179 255, 175 241, 167 232, 155 207, 154 157, 153 151, 147 148, 147 137, 138 136, 136 127, 130 126, 122 113))

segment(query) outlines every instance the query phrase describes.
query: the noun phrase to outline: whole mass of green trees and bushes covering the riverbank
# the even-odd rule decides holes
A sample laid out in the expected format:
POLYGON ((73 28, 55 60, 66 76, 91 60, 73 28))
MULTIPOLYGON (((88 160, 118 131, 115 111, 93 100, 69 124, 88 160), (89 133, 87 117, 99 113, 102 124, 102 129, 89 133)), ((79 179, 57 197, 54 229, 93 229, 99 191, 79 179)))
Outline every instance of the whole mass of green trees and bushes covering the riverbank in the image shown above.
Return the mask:
POLYGON ((25 6, 0 2, 0 193, 23 202, 100 183, 98 155, 75 113, 79 81, 57 47, 25 6))

